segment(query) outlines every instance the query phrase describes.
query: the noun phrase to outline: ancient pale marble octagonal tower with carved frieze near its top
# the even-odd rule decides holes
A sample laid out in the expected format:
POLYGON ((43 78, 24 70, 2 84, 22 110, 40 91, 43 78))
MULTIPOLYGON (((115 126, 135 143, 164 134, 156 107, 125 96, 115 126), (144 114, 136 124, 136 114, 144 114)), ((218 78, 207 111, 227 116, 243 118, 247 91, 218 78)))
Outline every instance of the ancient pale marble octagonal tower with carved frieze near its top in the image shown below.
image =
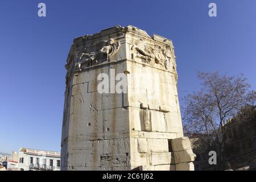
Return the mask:
POLYGON ((193 170, 171 40, 108 28, 76 38, 65 68, 62 170, 193 170))

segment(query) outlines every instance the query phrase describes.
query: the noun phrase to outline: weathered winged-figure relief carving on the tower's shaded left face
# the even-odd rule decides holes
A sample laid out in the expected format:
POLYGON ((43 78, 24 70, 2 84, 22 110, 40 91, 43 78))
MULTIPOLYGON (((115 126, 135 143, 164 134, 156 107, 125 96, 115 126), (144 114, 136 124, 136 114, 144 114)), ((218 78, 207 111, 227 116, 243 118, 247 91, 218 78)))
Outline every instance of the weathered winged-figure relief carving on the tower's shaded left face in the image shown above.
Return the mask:
POLYGON ((96 50, 90 52, 89 49, 84 49, 84 52, 82 52, 79 62, 77 63, 79 70, 81 70, 82 65, 90 67, 104 61, 110 61, 110 57, 118 51, 120 43, 115 42, 113 39, 109 39, 93 44, 91 47, 96 47, 96 50))

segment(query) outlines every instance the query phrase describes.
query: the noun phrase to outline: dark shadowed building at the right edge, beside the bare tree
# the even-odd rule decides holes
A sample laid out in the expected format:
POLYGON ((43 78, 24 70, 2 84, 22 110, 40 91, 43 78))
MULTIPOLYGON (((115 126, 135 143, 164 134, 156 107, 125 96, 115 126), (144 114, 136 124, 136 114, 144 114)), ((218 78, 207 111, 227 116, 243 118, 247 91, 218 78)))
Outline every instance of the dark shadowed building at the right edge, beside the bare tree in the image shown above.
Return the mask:
POLYGON ((256 107, 253 117, 243 122, 236 118, 226 123, 225 160, 232 169, 249 166, 256 170, 256 107))

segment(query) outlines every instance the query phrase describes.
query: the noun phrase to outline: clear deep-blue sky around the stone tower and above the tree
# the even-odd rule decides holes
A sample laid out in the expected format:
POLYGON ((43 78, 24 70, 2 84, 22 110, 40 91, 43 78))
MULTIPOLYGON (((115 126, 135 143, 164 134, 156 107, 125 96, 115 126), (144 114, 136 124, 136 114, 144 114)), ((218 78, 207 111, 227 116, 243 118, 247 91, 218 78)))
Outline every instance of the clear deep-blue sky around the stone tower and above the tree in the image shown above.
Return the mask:
POLYGON ((60 151, 73 38, 117 24, 173 40, 180 96, 199 89, 197 71, 244 73, 256 89, 255 0, 2 0, 0 23, 0 152, 60 151), (38 17, 39 2, 46 3, 46 18, 38 17), (210 2, 216 18, 208 16, 210 2))

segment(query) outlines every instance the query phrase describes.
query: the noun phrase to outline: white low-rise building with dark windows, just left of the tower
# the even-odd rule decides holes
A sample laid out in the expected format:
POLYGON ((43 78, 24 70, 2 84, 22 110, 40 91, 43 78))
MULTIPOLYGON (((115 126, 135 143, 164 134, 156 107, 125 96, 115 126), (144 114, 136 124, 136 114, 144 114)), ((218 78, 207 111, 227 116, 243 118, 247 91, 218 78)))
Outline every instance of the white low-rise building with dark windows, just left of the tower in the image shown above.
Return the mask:
POLYGON ((59 171, 60 152, 20 148, 19 171, 59 171))

